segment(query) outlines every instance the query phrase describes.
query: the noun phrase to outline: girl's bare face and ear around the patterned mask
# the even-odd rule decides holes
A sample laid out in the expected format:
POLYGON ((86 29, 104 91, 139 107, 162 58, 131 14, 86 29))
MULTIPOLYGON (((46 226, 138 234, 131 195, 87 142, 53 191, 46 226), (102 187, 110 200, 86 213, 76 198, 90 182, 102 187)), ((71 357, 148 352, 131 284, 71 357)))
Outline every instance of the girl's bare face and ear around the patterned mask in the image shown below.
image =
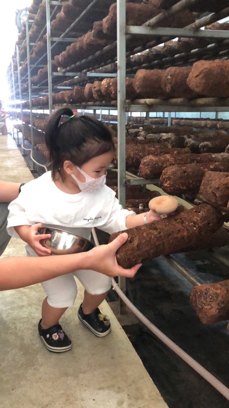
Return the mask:
MULTIPOLYGON (((104 153, 100 156, 94 157, 93 159, 89 160, 89 162, 84 163, 81 166, 81 169, 85 171, 85 173, 93 177, 95 179, 99 178, 100 176, 106 174, 108 166, 110 166, 114 157, 114 152, 109 151, 104 153)), ((78 178, 79 181, 84 182, 84 176, 75 168, 73 173, 78 178)))

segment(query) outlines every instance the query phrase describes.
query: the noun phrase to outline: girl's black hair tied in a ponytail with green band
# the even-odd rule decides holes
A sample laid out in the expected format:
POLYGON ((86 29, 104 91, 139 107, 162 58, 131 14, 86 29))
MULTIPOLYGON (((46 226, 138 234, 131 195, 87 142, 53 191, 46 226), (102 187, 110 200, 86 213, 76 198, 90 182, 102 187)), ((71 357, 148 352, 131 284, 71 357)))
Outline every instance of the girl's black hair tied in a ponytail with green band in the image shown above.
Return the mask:
POLYGON ((45 142, 53 179, 59 173, 64 180, 65 160, 81 167, 93 157, 115 151, 112 135, 105 125, 89 116, 74 115, 69 108, 59 109, 50 116, 45 142))

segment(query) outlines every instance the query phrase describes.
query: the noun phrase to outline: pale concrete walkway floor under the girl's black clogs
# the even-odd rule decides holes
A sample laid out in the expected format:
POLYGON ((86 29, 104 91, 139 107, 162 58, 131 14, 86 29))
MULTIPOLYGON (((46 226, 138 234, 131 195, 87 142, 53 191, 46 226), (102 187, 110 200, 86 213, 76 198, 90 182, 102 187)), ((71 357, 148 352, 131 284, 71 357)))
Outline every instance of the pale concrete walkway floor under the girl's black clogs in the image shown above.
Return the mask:
MULTIPOLYGON (((11 137, 0 136, 1 180, 27 182, 32 175, 11 137)), ((2 257, 25 255, 11 239, 2 257)), ((53 354, 37 335, 44 292, 40 284, 0 293, 0 406, 14 408, 166 408, 159 391, 109 305, 112 331, 95 337, 77 318, 83 297, 61 323, 73 341, 67 353, 53 354)))

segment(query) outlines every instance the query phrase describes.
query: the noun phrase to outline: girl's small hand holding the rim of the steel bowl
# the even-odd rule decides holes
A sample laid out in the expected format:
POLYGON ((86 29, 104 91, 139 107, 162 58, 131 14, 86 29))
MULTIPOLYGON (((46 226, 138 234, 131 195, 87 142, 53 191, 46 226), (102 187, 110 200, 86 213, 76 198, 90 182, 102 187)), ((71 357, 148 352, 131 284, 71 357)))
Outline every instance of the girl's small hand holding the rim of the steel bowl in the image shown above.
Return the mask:
POLYGON ((50 249, 45 248, 40 241, 41 239, 50 238, 51 234, 37 234, 38 229, 41 227, 41 223, 32 225, 27 231, 26 242, 38 256, 48 256, 51 255, 50 249))

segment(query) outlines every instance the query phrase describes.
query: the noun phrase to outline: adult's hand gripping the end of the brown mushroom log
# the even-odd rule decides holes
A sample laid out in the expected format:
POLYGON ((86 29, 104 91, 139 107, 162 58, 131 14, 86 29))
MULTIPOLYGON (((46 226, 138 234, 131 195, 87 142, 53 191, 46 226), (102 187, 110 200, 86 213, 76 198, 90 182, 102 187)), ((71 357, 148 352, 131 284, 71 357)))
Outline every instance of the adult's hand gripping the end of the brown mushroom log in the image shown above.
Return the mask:
POLYGON ((128 238, 127 233, 120 234, 114 241, 108 245, 100 245, 96 248, 88 251, 90 255, 90 268, 103 273, 104 275, 114 276, 126 276, 134 277, 142 264, 132 266, 131 269, 124 269, 118 265, 116 259, 116 252, 121 245, 123 245, 128 238))

